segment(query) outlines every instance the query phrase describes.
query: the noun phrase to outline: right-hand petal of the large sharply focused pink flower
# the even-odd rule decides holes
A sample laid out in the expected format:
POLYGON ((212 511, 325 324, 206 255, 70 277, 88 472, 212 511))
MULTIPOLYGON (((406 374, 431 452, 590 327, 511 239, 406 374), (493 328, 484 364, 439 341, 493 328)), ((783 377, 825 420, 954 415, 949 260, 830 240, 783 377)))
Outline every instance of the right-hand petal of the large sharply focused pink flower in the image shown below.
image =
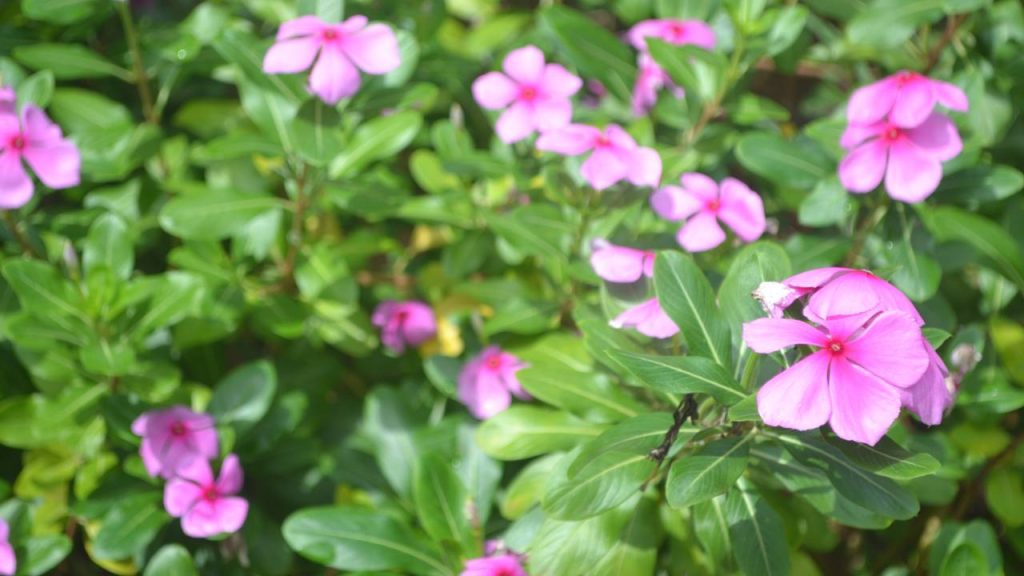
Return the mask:
POLYGON ((844 345, 846 358, 901 388, 918 382, 928 369, 921 328, 901 312, 877 316, 856 339, 844 345))

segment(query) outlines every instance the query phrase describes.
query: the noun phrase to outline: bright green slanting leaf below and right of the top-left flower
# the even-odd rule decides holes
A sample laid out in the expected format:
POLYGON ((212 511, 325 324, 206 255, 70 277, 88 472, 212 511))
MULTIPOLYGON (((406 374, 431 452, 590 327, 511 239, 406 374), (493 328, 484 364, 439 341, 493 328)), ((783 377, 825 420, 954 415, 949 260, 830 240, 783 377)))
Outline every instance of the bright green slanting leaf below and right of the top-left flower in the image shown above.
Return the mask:
POLYGON ((331 162, 331 177, 352 176, 371 162, 390 158, 406 149, 420 132, 423 117, 412 111, 375 118, 359 126, 347 146, 331 162))

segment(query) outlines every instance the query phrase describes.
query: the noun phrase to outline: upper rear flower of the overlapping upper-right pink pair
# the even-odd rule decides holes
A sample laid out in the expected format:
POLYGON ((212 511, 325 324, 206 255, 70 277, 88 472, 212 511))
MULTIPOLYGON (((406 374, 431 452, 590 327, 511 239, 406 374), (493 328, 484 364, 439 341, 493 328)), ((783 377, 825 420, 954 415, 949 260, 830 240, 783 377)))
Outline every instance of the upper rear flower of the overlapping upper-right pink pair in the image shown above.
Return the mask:
POLYGON ((855 90, 846 117, 851 124, 873 124, 888 115, 894 126, 915 128, 931 116, 936 104, 958 112, 968 110, 967 94, 957 86, 903 71, 855 90))

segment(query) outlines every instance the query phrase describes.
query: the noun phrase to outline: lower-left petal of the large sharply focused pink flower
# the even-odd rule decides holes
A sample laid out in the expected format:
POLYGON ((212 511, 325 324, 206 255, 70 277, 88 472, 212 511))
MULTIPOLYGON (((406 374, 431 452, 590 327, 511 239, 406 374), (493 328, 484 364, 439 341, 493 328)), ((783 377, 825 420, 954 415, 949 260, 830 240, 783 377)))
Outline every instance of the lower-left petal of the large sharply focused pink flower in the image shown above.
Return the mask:
POLYGON ((758 390, 758 414, 769 426, 810 430, 828 421, 827 354, 814 353, 765 382, 758 390))

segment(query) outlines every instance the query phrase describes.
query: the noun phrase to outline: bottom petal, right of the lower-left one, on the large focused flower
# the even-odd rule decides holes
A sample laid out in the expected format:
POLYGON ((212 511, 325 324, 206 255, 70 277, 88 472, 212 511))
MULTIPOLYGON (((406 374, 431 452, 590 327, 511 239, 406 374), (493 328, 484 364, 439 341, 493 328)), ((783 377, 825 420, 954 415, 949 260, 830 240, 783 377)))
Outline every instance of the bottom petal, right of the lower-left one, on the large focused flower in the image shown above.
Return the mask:
POLYGON ((899 388, 870 372, 834 358, 828 371, 833 431, 843 440, 878 444, 899 416, 899 388))

